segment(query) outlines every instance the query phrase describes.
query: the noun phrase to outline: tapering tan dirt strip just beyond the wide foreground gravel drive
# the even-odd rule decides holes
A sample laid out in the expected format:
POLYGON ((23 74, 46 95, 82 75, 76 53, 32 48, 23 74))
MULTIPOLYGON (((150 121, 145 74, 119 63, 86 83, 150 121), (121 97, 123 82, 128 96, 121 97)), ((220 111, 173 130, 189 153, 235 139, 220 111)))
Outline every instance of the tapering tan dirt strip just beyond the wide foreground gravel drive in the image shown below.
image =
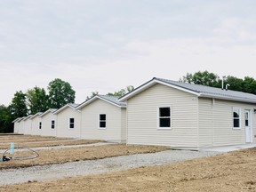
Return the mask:
MULTIPOLYGON (((83 148, 61 148, 37 151, 39 157, 28 160, 11 160, 1 164, 0 170, 28 167, 42 164, 61 164, 83 160, 95 160, 112 156, 128 156, 132 154, 156 153, 170 148, 154 146, 134 146, 124 144, 113 144, 104 146, 93 146, 83 148)), ((15 156, 28 156, 28 152, 17 152, 15 156)))

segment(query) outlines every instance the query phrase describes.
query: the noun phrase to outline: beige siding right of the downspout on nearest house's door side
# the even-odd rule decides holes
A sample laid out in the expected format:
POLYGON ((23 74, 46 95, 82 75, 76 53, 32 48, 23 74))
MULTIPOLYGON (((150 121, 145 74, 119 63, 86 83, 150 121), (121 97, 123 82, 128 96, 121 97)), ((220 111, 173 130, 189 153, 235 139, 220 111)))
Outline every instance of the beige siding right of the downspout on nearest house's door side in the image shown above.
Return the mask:
POLYGON ((236 145, 245 143, 244 109, 251 110, 252 131, 255 134, 256 124, 253 107, 253 105, 242 102, 215 100, 212 111, 213 146, 236 145), (240 129, 233 129, 233 108, 241 109, 240 129))

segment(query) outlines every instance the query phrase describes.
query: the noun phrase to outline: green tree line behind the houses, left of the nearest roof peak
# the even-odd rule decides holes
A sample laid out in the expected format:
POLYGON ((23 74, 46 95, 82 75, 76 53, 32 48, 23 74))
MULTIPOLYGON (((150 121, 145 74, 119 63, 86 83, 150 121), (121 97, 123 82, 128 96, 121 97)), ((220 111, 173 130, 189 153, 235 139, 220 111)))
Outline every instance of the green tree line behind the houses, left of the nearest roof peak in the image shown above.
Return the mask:
MULTIPOLYGON (((127 86, 117 92, 108 92, 107 95, 122 96, 133 90, 133 86, 127 86)), ((8 107, 0 105, 0 132, 13 132, 12 121, 18 117, 35 115, 49 108, 61 108, 68 103, 74 103, 76 92, 72 86, 60 78, 52 80, 47 86, 48 93, 44 88, 35 86, 27 92, 15 92, 12 102, 8 107)), ((99 92, 92 92, 89 100, 99 92)))

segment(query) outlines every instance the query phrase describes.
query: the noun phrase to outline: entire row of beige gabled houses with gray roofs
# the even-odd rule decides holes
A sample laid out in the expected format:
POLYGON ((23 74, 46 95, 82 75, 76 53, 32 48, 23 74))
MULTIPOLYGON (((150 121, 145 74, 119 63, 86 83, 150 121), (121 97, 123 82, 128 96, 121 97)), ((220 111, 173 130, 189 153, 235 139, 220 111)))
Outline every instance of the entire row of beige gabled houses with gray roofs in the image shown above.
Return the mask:
POLYGON ((123 97, 96 95, 13 121, 14 132, 205 148, 256 142, 256 95, 154 77, 123 97))

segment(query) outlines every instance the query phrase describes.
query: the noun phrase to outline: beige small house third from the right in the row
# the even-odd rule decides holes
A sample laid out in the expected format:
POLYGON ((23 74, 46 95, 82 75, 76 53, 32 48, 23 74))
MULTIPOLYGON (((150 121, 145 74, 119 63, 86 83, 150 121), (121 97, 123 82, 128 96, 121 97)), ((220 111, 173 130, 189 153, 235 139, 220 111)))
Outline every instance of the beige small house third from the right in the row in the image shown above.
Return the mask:
POLYGON ((80 138, 80 112, 76 110, 78 104, 69 103, 56 110, 56 137, 80 138))

